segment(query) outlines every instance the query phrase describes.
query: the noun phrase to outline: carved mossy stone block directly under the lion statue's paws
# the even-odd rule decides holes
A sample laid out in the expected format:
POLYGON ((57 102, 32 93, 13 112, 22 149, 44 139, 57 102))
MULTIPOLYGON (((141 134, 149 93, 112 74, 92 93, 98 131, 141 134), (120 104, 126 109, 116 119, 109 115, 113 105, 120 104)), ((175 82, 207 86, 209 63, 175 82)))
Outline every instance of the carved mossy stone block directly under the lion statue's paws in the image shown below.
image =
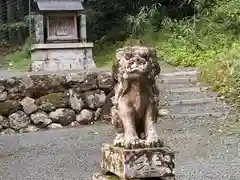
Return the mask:
POLYGON ((174 177, 174 153, 167 147, 123 149, 102 146, 101 168, 120 179, 174 177))

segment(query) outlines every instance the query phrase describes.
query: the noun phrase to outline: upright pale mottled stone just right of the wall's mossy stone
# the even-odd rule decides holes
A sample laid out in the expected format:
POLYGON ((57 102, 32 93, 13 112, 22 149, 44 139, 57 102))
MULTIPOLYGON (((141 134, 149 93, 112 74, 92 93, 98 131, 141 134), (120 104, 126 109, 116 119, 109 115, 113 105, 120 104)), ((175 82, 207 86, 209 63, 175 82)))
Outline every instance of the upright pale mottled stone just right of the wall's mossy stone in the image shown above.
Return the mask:
POLYGON ((74 92, 72 89, 69 89, 69 101, 71 108, 75 111, 80 112, 84 107, 82 97, 78 93, 74 92))

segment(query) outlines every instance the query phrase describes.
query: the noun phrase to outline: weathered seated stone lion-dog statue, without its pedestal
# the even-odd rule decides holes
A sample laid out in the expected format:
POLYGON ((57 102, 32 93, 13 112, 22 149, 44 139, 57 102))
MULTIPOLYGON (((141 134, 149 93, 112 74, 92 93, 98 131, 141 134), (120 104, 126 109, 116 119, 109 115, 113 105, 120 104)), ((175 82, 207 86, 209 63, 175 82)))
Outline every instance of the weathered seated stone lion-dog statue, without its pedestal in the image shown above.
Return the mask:
POLYGON ((158 116, 155 79, 160 74, 156 51, 144 46, 117 50, 113 76, 117 81, 112 123, 117 135, 114 145, 125 148, 159 147, 154 122, 158 116))

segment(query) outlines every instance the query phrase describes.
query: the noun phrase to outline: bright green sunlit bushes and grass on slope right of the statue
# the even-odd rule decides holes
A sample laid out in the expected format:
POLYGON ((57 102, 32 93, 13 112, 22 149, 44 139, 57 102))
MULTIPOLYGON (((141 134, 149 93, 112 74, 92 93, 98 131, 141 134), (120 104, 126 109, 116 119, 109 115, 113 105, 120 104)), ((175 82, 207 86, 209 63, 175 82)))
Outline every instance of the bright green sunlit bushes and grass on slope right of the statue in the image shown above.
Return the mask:
POLYGON ((240 1, 218 3, 191 18, 165 18, 141 39, 171 65, 199 67, 203 81, 240 107, 240 1))

